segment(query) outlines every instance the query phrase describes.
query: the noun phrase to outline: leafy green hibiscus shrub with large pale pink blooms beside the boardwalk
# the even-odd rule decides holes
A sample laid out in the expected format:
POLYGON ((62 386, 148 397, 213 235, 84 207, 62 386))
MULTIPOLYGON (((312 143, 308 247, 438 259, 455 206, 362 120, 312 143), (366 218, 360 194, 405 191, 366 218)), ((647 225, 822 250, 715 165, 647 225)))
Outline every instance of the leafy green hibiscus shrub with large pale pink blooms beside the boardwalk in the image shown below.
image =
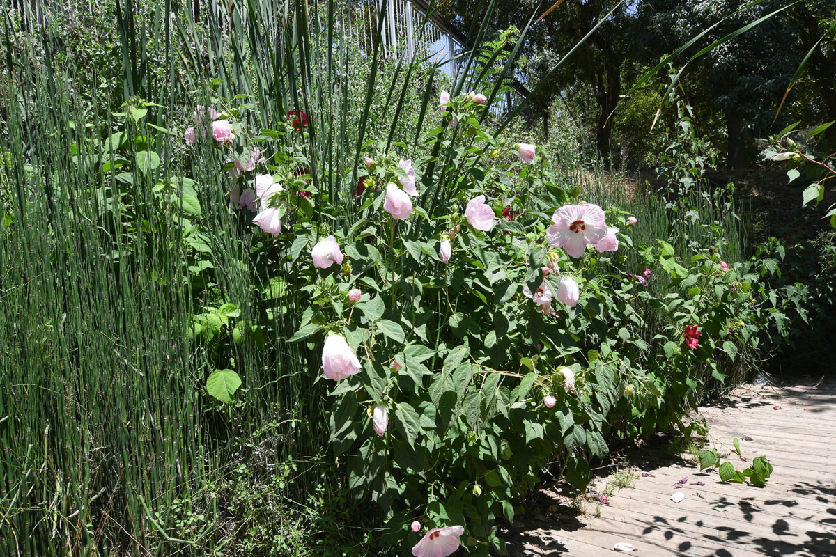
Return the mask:
POLYGON ((618 210, 590 238, 597 249, 564 244, 547 230, 555 211, 600 209, 555 185, 543 152, 505 162, 517 145, 482 129, 466 96, 442 109, 425 142, 447 150, 444 166, 371 144, 359 185, 342 180, 350 225, 337 224, 344 205, 291 179, 303 160, 288 153, 267 166, 269 193, 255 191, 259 214, 281 215, 280 230, 262 220, 275 236, 267 269, 287 271, 272 281, 309 300, 289 341, 307 345, 309 372, 324 368, 349 491, 380 505, 385 541, 415 544, 415 520, 462 525, 466 549, 490 554, 502 550, 497 520, 513 519, 547 463, 584 489, 611 440, 684 428, 724 384, 722 363, 756 351, 786 302, 761 286, 758 263, 728 265, 719 246, 685 261, 665 241, 634 246, 618 210), (319 224, 313 211, 331 216, 319 224), (645 269, 625 268, 624 251, 645 269), (663 297, 648 288, 660 276, 663 297), (663 322, 651 338, 637 304, 663 322))

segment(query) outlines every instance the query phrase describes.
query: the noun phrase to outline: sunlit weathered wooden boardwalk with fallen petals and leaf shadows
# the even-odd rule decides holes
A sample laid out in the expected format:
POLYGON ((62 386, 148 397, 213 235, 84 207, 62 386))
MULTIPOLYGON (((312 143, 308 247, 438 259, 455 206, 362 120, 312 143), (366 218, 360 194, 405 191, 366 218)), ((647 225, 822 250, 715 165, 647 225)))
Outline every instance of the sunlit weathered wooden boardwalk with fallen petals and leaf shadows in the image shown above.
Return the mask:
MULTIPOLYGON (((627 457, 635 483, 616 488, 609 505, 584 502, 573 512, 553 490, 538 494, 537 507, 507 534, 510 553, 612 557, 614 545, 627 542, 638 548, 630 554, 653 557, 836 556, 836 379, 747 385, 700 414, 709 447, 731 453, 723 462, 746 468, 732 438, 748 461, 769 458, 774 470, 765 487, 722 484, 716 469, 700 473, 690 454, 653 456, 661 453, 656 445, 627 457), (688 483, 675 489, 683 476, 688 483), (670 499, 676 491, 685 494, 679 504, 670 499)), ((608 483, 612 476, 595 489, 608 483)))

